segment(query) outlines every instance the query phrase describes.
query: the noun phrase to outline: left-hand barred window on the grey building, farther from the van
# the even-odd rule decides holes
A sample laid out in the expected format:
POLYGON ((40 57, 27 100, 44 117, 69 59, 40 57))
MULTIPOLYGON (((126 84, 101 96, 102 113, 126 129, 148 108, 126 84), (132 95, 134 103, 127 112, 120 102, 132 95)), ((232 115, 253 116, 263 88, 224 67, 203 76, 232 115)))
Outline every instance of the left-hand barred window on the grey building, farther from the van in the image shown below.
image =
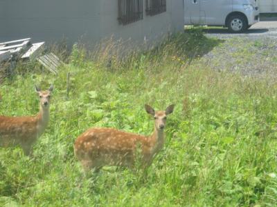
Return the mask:
POLYGON ((143 19, 143 0, 118 0, 118 21, 126 25, 143 19))

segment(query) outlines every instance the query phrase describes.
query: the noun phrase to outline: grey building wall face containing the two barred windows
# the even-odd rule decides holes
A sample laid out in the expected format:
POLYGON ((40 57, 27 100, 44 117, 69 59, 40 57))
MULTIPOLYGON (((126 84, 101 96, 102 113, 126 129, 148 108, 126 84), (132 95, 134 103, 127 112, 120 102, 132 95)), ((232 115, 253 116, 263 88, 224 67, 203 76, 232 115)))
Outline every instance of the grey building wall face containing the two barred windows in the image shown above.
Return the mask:
POLYGON ((166 12, 154 16, 145 14, 145 1, 143 1, 143 19, 128 25, 118 23, 118 1, 101 1, 101 31, 102 37, 132 41, 153 42, 170 32, 184 30, 183 0, 167 0, 166 12))

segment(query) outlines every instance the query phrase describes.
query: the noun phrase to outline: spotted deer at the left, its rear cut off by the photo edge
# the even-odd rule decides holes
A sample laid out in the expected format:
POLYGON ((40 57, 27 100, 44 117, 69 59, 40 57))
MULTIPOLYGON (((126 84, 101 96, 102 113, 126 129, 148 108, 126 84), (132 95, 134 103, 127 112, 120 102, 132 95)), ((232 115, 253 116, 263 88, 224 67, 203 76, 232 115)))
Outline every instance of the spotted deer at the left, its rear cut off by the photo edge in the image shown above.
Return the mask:
POLYGON ((39 96, 39 112, 30 117, 5 117, 0 116, 0 147, 8 148, 20 146, 24 155, 30 155, 33 144, 46 129, 50 112, 50 99, 53 92, 51 84, 48 90, 42 91, 35 86, 39 96))

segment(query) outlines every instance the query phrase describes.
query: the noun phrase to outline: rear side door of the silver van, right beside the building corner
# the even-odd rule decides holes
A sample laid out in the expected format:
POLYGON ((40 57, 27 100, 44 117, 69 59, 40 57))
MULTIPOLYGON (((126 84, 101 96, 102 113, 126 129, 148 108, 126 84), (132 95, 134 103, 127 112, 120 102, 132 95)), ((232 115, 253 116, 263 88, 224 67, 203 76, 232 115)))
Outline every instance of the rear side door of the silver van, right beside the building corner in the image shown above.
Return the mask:
POLYGON ((200 0, 184 0, 185 24, 200 24, 200 0))

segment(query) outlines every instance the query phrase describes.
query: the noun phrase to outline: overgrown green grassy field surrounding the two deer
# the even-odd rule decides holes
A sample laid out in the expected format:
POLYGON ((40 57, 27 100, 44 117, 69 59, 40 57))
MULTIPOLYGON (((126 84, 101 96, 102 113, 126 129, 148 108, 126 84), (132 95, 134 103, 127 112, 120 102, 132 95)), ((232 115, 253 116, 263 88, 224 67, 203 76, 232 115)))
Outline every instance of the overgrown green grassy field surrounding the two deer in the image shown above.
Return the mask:
POLYGON ((221 45, 193 30, 124 60, 75 46, 57 76, 19 66, 0 85, 0 114, 35 115, 35 83, 53 83, 51 121, 33 157, 0 148, 0 206, 276 206, 277 84, 209 68, 203 55, 221 45), (145 103, 176 104, 152 166, 84 175, 76 137, 91 126, 150 135, 145 103))

